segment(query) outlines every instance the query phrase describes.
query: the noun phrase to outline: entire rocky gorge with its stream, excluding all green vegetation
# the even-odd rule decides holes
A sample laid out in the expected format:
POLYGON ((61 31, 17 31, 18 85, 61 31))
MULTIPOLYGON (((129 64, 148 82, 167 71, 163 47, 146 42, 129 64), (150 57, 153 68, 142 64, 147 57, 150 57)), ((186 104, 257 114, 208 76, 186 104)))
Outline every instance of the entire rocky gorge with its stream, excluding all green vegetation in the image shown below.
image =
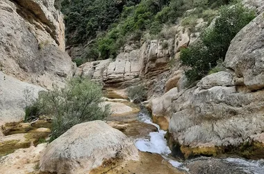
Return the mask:
POLYGON ((0 171, 263 174, 264 4, 243 3, 258 15, 231 41, 224 70, 188 86, 179 52, 199 40, 203 19, 197 33, 178 24, 162 39, 128 43, 115 59, 77 68, 54 0, 2 0, 0 171), (111 116, 46 143, 51 119, 21 122, 25 107, 72 77, 102 84, 111 116), (137 84, 148 89, 141 106, 127 100, 126 88, 137 84))

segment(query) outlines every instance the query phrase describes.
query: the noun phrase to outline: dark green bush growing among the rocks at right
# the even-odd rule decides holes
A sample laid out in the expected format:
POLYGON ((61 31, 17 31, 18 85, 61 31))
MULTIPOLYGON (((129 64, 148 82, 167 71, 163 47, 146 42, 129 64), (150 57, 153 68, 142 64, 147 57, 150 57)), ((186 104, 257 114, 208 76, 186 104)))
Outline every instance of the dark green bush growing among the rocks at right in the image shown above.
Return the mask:
POLYGON ((183 65, 190 67, 185 72, 190 83, 208 74, 217 65, 217 61, 224 60, 231 40, 254 17, 254 12, 241 4, 220 9, 220 17, 216 19, 215 26, 202 33, 201 41, 181 50, 183 65))

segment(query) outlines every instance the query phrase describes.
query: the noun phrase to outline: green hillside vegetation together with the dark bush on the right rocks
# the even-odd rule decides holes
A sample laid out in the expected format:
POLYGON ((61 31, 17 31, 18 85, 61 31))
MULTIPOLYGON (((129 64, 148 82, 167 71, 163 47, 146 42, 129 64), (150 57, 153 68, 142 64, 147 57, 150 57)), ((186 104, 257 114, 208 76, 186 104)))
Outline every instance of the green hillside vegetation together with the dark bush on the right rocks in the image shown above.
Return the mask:
POLYGON ((207 26, 215 19, 213 27, 199 31, 199 43, 181 50, 183 65, 190 67, 185 72, 190 82, 215 67, 211 72, 221 70, 231 40, 255 17, 236 0, 64 0, 61 9, 67 45, 85 47, 74 59, 77 65, 115 58, 127 43, 140 47, 140 41, 174 38, 168 29, 177 24, 194 33, 197 19, 204 19, 207 26))

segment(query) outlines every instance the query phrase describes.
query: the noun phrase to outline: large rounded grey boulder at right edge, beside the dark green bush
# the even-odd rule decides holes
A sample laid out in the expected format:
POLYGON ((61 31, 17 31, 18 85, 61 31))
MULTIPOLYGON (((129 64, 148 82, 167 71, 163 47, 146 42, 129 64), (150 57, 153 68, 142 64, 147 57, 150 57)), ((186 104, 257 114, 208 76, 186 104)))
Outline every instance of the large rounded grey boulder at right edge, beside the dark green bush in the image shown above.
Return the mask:
POLYGON ((249 90, 264 87, 263 15, 258 15, 233 38, 224 61, 226 68, 244 78, 249 90))

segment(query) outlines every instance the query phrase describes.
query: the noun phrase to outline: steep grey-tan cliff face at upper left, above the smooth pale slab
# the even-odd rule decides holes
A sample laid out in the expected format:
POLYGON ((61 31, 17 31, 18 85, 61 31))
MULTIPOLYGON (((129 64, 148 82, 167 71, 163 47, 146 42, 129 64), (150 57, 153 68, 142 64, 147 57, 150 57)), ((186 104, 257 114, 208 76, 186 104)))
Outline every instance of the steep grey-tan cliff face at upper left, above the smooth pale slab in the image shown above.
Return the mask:
POLYGON ((72 76, 64 52, 63 16, 52 0, 0 3, 0 70, 22 81, 51 88, 72 76))

